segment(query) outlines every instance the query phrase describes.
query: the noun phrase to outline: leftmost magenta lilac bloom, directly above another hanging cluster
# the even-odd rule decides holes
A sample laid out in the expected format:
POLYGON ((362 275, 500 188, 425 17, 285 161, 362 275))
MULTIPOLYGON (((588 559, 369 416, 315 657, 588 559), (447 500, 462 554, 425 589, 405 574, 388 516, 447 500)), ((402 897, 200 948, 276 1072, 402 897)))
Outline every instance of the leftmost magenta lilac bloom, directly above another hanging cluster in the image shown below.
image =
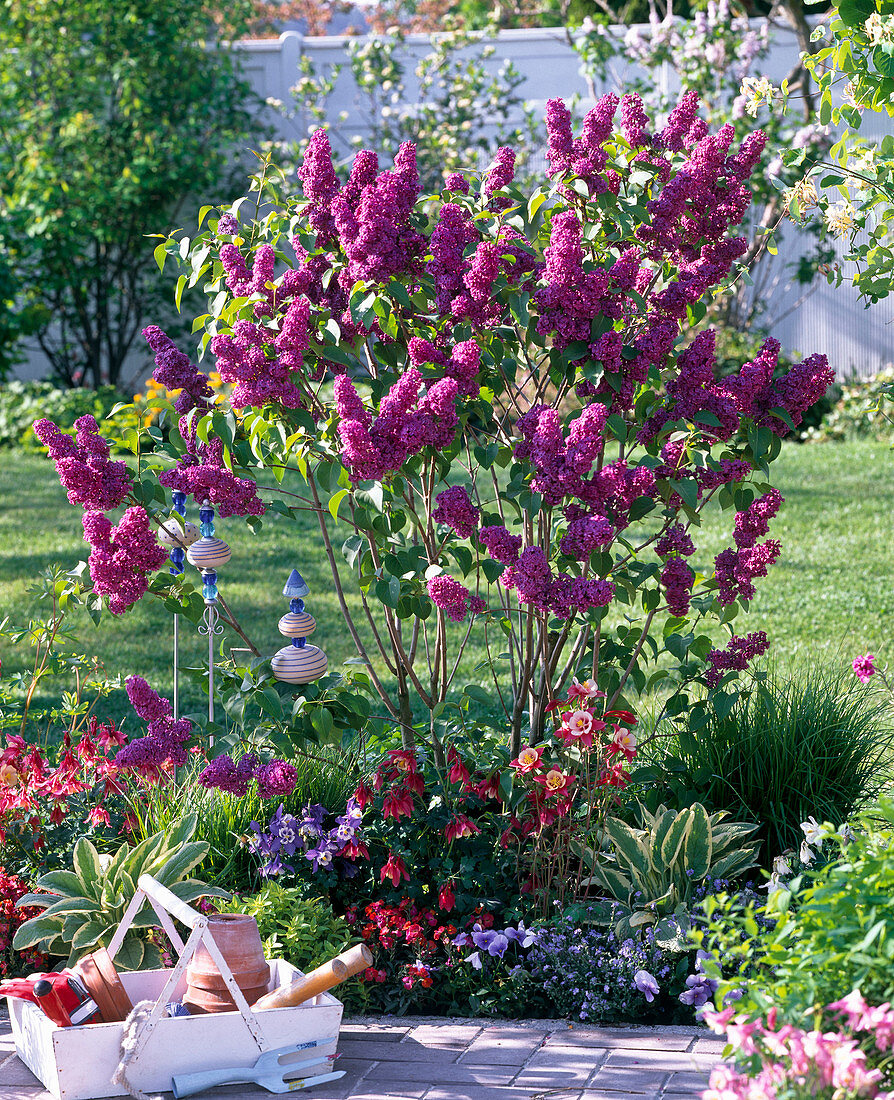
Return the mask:
POLYGON ((34 435, 47 448, 69 503, 89 512, 118 507, 131 488, 126 463, 109 459, 109 443, 99 435, 95 417, 78 417, 75 429, 73 439, 52 420, 34 422, 34 435))

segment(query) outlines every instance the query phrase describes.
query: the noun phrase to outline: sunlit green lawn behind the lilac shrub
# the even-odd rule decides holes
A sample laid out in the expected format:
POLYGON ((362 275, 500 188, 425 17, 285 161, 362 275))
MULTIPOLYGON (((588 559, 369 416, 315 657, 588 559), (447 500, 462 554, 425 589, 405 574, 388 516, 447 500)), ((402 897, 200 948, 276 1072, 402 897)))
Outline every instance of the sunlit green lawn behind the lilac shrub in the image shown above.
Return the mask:
MULTIPOLYGON (((847 662, 868 649, 886 654, 894 609, 893 469, 894 455, 878 443, 783 448, 773 480, 786 503, 771 531, 782 539, 782 556, 769 578, 758 582, 751 613, 737 620, 739 632, 768 631, 777 669, 806 661, 847 662)), ((9 615, 24 624, 36 612, 26 594, 29 583, 52 562, 71 568, 86 557, 80 515, 80 508, 67 503, 48 460, 0 452, 0 618, 9 615)), ((730 528, 731 516, 708 517, 696 561, 707 565, 708 554, 729 543, 730 528)), ((296 527, 271 514, 258 536, 241 520, 222 520, 218 534, 233 549, 220 573, 221 592, 263 651, 272 653, 283 644, 276 629, 286 609, 282 587, 297 566, 310 585, 308 609, 319 624, 314 640, 329 654, 330 667, 353 656, 309 517, 296 527)), ((139 672, 170 692, 170 617, 155 602, 144 601, 119 619, 106 617, 100 629, 85 618, 80 638, 110 673, 139 672)), ((188 625, 183 639, 185 660, 198 662, 203 639, 188 625)), ((27 653, 0 647, 5 676, 22 667, 27 653)), ((487 685, 485 674, 474 672, 481 656, 470 648, 460 684, 487 685)), ((188 684, 183 690, 185 708, 201 710, 198 690, 188 684)), ((110 707, 109 713, 126 713, 123 694, 110 707)))

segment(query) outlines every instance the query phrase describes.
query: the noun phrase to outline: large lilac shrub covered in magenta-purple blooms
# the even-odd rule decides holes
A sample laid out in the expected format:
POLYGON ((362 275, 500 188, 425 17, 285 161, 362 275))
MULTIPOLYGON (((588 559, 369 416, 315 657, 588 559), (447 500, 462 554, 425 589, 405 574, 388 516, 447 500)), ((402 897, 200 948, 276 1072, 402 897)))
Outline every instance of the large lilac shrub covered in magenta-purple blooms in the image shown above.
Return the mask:
MULTIPOLYGON (((280 200, 265 164, 263 217, 207 207, 198 237, 156 249, 186 264, 178 300, 208 289, 195 330, 233 389, 212 406, 198 367, 147 329, 156 381, 180 394, 158 399, 170 430, 144 436, 142 471, 254 528, 310 509, 375 705, 439 768, 472 631, 512 757, 574 675, 607 711, 636 712, 661 684, 667 713, 691 708, 697 727, 704 696, 729 696, 769 646, 731 624, 781 552, 765 538, 782 505, 770 462, 832 375, 821 355, 780 371, 769 340, 718 381, 715 333, 684 338, 737 277, 764 146, 760 131, 709 133, 698 108, 688 92, 659 125, 637 96, 609 95, 575 136, 551 100, 551 182, 530 196, 509 150, 434 196, 411 143, 385 170, 358 153, 344 179, 318 131, 303 198, 280 200), (258 469, 278 484, 255 485, 258 469), (696 546, 708 506, 736 516, 714 561, 696 546)), ((143 479, 117 498, 145 524, 158 495, 143 479)), ((96 516, 110 502, 85 483, 77 503, 96 516)), ((108 540, 124 543, 99 526, 101 593, 108 540)), ((186 578, 118 557, 133 574, 113 612, 143 590, 187 600, 186 578)))

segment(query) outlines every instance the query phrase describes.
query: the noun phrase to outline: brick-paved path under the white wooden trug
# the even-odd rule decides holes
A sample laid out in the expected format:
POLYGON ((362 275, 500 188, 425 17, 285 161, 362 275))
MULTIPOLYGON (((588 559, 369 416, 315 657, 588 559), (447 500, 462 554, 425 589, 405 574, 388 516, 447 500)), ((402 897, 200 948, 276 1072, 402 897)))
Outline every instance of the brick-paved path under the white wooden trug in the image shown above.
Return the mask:
MULTIPOLYGON (((308 1100, 694 1100, 722 1042, 693 1027, 597 1028, 552 1021, 344 1023, 346 1076, 308 1100), (541 1026, 542 1024, 542 1026, 541 1026)), ((261 1100, 231 1085, 200 1097, 261 1100)), ((0 1100, 51 1100, 15 1057, 0 1018, 0 1100)))

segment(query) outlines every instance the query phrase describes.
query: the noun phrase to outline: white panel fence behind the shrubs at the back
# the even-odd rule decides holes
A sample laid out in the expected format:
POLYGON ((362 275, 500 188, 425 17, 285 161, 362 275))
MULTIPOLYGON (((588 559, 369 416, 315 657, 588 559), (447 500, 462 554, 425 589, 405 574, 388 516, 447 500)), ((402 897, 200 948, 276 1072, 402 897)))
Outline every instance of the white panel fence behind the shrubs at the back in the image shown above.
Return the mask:
MULTIPOLYGON (((333 119, 342 112, 346 116, 339 127, 346 140, 353 135, 365 138, 368 133, 369 124, 363 113, 362 97, 357 95, 346 64, 349 41, 343 36, 305 37, 287 32, 275 40, 239 43, 245 74, 255 91, 264 99, 278 100, 289 108, 297 107, 291 121, 271 110, 268 118, 276 125, 280 139, 295 140, 307 132, 308 119, 301 111, 301 105, 295 103, 290 91, 298 79, 301 56, 308 57, 320 72, 331 73, 334 66, 341 66, 334 91, 328 101, 328 112, 333 119)), ((412 59, 422 56, 428 44, 426 35, 411 35, 406 43, 408 64, 405 79, 410 99, 415 96, 412 59)), ((496 48, 487 64, 496 69, 505 61, 511 59, 525 77, 517 95, 536 112, 542 114, 545 101, 556 96, 569 99, 576 95, 583 105, 586 103, 588 91, 581 75, 580 58, 570 45, 564 29, 504 31, 494 44, 496 48)), ((775 82, 782 80, 790 72, 796 53, 794 35, 777 32, 764 64, 765 75, 775 82)), ((631 72, 629 66, 616 65, 608 86, 612 86, 614 90, 622 88, 626 76, 631 72)), ((881 117, 868 118, 864 122, 865 135, 887 132, 886 123, 891 125, 881 117)), ((771 331, 783 346, 805 355, 825 352, 839 377, 852 374, 865 376, 882 365, 894 362, 894 331, 891 328, 894 295, 886 301, 864 309, 849 285, 846 265, 842 286, 836 288, 825 282, 817 282, 813 293, 798 304, 803 292, 786 289, 782 277, 782 266, 785 262, 791 262, 798 251, 798 234, 790 229, 777 260, 773 261, 777 265, 780 283, 771 296, 772 304, 768 310, 771 331)), ((44 373, 44 366, 40 359, 32 359, 22 373, 40 376, 44 373)))

